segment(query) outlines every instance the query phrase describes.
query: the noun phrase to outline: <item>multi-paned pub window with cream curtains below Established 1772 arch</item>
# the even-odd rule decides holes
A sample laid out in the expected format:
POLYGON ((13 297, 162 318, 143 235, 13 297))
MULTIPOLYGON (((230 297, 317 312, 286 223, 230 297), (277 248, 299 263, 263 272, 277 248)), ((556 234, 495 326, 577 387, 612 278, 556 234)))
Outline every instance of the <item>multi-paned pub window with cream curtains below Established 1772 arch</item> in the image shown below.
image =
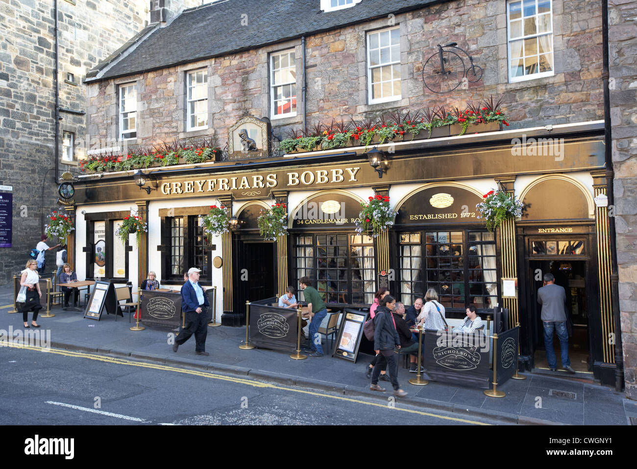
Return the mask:
POLYGON ((494 234, 471 230, 399 235, 401 301, 413 304, 429 288, 445 309, 462 314, 473 304, 491 309, 497 302, 494 234))

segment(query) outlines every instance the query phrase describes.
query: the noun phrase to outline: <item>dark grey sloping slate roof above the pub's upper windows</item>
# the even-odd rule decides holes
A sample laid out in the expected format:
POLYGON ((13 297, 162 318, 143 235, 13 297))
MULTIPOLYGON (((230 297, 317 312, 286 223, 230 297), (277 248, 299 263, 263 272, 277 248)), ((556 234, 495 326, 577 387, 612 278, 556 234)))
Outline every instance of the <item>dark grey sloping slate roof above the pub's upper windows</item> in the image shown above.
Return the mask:
MULTIPOLYGON (((320 0, 225 0, 184 10, 166 27, 156 27, 129 52, 118 50, 87 73, 87 81, 194 62, 348 24, 416 10, 435 0, 362 0, 351 8, 324 12, 320 0), (248 26, 241 25, 247 15, 248 26), (245 18, 245 17, 243 17, 245 18), (109 64, 113 64, 101 75, 109 64), (101 75, 101 76, 100 76, 101 75)), ((438 0, 440 3, 440 0, 438 0)), ((146 31, 145 31, 146 32, 146 31)), ((136 36, 140 37, 140 34, 136 36)), ((129 41, 130 42, 130 41, 129 41)), ((128 43, 127 43, 128 44, 128 43)))

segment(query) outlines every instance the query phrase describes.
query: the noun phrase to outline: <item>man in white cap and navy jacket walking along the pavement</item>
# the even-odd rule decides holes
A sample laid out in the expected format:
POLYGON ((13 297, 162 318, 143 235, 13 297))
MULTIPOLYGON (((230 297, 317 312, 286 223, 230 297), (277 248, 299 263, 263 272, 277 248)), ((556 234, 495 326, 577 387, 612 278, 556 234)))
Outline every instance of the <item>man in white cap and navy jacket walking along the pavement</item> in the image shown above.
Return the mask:
POLYGON ((176 352, 180 345, 195 334, 195 354, 210 355, 206 352, 206 336, 208 336, 208 297, 199 285, 199 272, 196 267, 188 271, 188 280, 182 287, 182 311, 186 316, 185 327, 179 332, 173 345, 176 352))

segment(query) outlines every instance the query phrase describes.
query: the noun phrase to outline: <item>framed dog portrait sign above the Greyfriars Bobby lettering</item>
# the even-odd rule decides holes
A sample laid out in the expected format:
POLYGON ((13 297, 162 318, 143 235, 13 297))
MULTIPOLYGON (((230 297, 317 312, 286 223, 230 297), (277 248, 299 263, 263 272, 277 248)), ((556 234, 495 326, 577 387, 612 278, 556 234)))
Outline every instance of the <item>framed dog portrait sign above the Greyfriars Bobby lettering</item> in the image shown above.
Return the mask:
POLYGON ((269 121, 244 115, 228 130, 228 160, 268 158, 270 154, 269 121))

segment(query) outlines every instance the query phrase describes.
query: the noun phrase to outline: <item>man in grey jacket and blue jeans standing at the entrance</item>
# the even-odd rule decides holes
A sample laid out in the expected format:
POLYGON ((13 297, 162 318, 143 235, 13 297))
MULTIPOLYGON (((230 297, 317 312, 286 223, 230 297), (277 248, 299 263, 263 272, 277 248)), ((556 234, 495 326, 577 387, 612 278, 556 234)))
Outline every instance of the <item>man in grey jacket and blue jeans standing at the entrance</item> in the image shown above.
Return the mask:
POLYGON ((542 325, 544 326, 544 345, 547 349, 548 368, 557 369, 557 357, 553 349, 553 331, 557 332, 562 349, 562 366, 575 374, 568 358, 568 332, 566 331, 566 292, 564 287, 555 285, 553 274, 544 275, 544 287, 538 290, 538 303, 542 305, 542 325))

